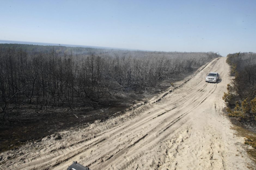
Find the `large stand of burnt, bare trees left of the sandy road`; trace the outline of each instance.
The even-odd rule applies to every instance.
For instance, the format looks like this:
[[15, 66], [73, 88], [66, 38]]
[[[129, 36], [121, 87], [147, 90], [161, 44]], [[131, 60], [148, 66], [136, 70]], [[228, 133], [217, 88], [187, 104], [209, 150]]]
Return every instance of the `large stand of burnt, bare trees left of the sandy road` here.
[[213, 57], [220, 56], [0, 44], [0, 116], [19, 116], [19, 109], [28, 104], [35, 111], [49, 106], [97, 107], [119, 92], [150, 91]]

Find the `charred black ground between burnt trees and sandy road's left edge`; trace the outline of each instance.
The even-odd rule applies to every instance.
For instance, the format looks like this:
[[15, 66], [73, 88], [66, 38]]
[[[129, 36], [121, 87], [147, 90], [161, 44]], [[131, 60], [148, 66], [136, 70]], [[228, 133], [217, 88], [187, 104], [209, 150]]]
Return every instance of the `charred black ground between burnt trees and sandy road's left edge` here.
[[[209, 60], [210, 61], [210, 60]], [[208, 61], [208, 62], [209, 62]], [[151, 93], [138, 92], [136, 89], [129, 94], [115, 94], [109, 100], [102, 103], [100, 108], [48, 108], [47, 111], [36, 113], [33, 105], [22, 108], [15, 122], [0, 123], [0, 153], [5, 150], [15, 149], [28, 141], [37, 141], [42, 137], [53, 134], [60, 130], [71, 127], [77, 127], [95, 120], [108, 118], [114, 113], [130, 107], [131, 105], [146, 101], [171, 86], [171, 83], [181, 81], [184, 78], [193, 75], [200, 66], [194, 67], [188, 73], [182, 73], [174, 76], [170, 80], [163, 81], [160, 86], [156, 87]]]

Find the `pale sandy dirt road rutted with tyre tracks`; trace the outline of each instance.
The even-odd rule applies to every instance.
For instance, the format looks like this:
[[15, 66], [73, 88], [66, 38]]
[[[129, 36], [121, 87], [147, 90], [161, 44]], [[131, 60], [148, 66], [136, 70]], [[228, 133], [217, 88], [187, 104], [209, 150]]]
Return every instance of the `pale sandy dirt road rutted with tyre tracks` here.
[[[0, 169], [66, 169], [73, 161], [92, 170], [255, 168], [223, 113], [231, 80], [225, 61], [214, 59], [123, 114], [7, 151], [14, 158]], [[220, 74], [218, 83], [205, 82], [210, 71]]]

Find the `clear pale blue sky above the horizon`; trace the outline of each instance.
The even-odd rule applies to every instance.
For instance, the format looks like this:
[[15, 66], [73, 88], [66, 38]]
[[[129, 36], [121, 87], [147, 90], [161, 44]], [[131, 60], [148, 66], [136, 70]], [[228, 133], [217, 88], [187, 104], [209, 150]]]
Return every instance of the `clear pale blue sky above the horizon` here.
[[256, 1], [0, 0], [0, 39], [140, 50], [256, 52]]

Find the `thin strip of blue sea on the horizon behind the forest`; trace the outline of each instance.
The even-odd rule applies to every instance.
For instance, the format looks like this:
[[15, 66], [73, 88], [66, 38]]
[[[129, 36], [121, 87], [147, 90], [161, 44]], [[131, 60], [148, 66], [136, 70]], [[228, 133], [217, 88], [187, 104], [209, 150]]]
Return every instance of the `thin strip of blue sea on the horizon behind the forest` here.
[[29, 41], [10, 41], [10, 40], [0, 40], [0, 44], [32, 44], [32, 45], [41, 45], [41, 46], [65, 46], [65, 47], [85, 47], [85, 48], [98, 48], [98, 49], [134, 50], [134, 49], [111, 48], [111, 47], [81, 46], [81, 45], [71, 45], [71, 44], [38, 43], [38, 42], [29, 42]]

